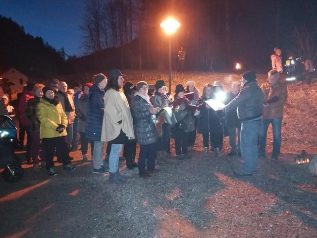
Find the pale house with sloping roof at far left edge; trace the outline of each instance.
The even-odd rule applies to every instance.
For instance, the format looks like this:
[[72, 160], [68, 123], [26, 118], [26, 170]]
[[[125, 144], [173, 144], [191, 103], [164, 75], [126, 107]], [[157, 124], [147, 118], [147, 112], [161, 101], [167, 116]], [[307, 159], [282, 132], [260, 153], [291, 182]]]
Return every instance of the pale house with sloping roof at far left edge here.
[[24, 85], [28, 81], [28, 77], [15, 68], [0, 71], [0, 78], [7, 78], [9, 82], [14, 83], [14, 85], [10, 86], [11, 100], [17, 99], [17, 94], [22, 92]]

